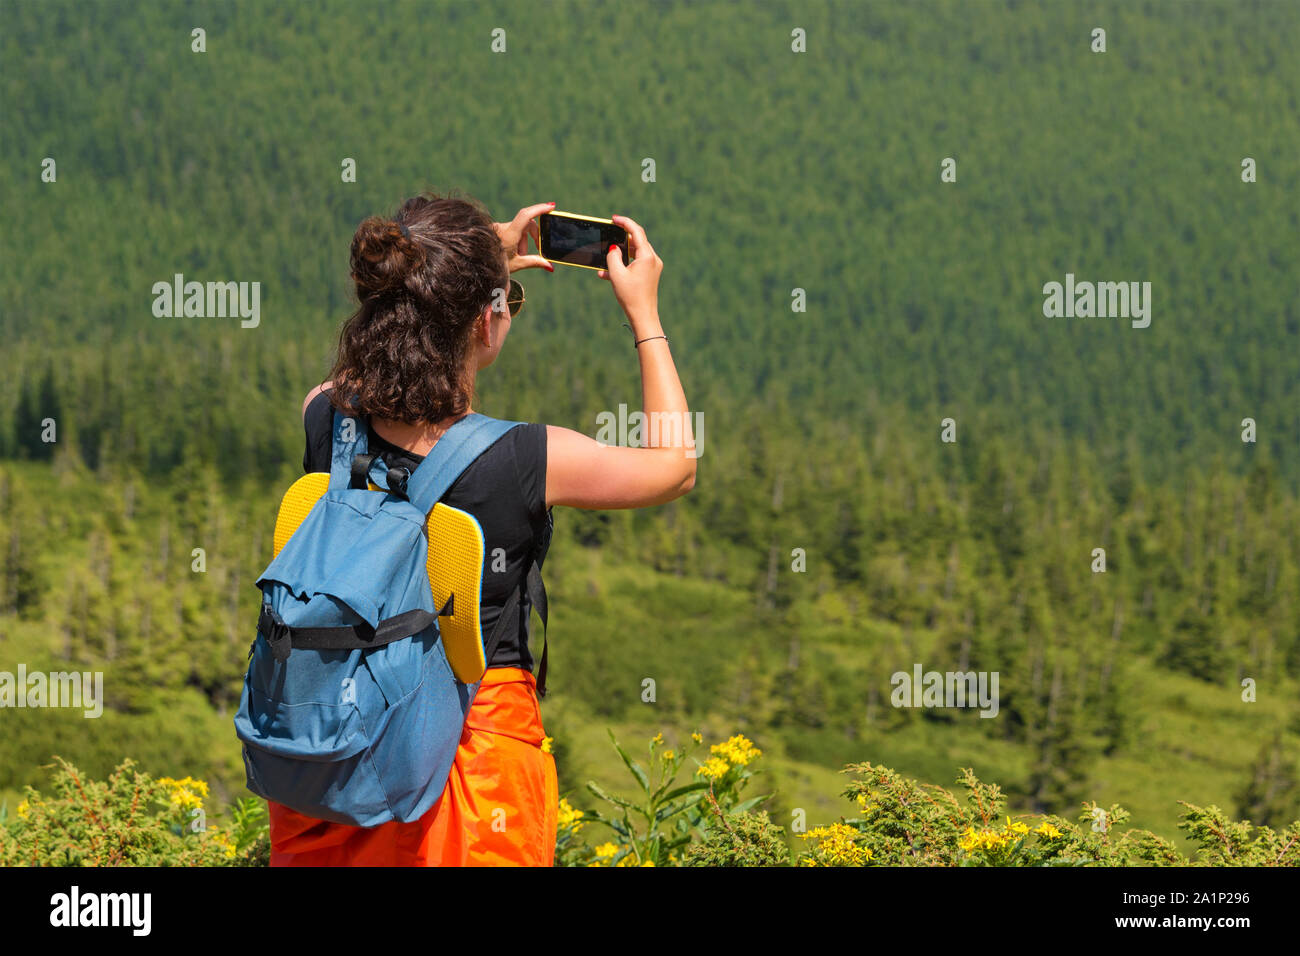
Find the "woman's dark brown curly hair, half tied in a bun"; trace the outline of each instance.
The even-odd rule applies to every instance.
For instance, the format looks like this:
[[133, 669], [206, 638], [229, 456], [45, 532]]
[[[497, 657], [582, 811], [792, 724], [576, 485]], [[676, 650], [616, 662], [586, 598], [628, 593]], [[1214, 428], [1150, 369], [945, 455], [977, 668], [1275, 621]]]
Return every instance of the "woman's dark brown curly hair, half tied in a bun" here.
[[493, 219], [472, 199], [424, 194], [352, 237], [360, 308], [343, 324], [330, 402], [352, 415], [434, 423], [469, 407], [474, 321], [510, 285]]

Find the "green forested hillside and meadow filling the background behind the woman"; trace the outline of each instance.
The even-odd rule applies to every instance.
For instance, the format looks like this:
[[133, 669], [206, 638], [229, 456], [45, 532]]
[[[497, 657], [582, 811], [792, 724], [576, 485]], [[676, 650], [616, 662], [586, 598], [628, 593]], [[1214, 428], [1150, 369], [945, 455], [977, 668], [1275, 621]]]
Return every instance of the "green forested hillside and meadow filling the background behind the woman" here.
[[[1179, 800], [1295, 819], [1297, 48], [1269, 1], [0, 0], [0, 671], [105, 697], [0, 710], [0, 803], [55, 754], [247, 796], [348, 243], [432, 189], [641, 222], [703, 416], [684, 498], [556, 509], [573, 806], [625, 775], [607, 730], [699, 730], [762, 748], [781, 826], [863, 761], [1175, 843]], [[260, 284], [256, 325], [156, 316], [177, 274]], [[1067, 274], [1149, 282], [1150, 324], [1046, 316]], [[608, 285], [517, 277], [476, 407], [637, 407]], [[997, 715], [894, 706], [916, 665], [996, 671]]]

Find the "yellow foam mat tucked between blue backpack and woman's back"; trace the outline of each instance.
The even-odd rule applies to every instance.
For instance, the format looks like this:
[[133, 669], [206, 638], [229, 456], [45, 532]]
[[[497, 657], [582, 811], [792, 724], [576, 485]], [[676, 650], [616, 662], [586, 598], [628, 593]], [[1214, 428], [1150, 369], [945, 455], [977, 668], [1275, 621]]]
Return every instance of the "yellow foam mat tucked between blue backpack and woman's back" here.
[[[290, 485], [276, 515], [274, 554], [280, 554], [326, 490], [328, 472], [303, 475]], [[381, 489], [372, 484], [370, 490]], [[452, 613], [438, 618], [447, 663], [458, 680], [472, 684], [488, 669], [478, 624], [485, 550], [482, 529], [469, 512], [442, 503], [433, 506], [425, 529], [433, 602], [441, 610], [455, 596]]]

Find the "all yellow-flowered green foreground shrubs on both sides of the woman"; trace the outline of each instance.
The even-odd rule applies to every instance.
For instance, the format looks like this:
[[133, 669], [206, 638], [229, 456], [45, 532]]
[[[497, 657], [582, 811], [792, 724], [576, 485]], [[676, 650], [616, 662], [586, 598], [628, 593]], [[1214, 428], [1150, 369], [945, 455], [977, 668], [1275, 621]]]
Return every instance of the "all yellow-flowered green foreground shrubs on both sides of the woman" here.
[[[612, 739], [612, 735], [611, 735]], [[559, 866], [786, 866], [784, 830], [758, 804], [741, 799], [762, 756], [744, 736], [714, 744], [679, 775], [703, 739], [681, 752], [650, 741], [647, 766], [614, 747], [637, 784], [628, 797], [597, 784], [607, 808], [582, 810], [560, 800]], [[55, 757], [52, 793], [27, 787], [12, 812], [0, 810], [0, 866], [265, 866], [266, 805], [237, 801], [229, 822], [207, 821], [203, 780], [152, 779], [126, 760], [96, 782]], [[798, 834], [798, 866], [1300, 866], [1300, 821], [1275, 830], [1230, 818], [1217, 806], [1183, 803], [1179, 829], [1196, 844], [1184, 856], [1148, 830], [1122, 829], [1128, 812], [1084, 803], [1078, 819], [1006, 810], [997, 784], [970, 769], [963, 796], [918, 783], [870, 762], [845, 769], [844, 796], [857, 816]], [[592, 825], [612, 839], [588, 843]]]

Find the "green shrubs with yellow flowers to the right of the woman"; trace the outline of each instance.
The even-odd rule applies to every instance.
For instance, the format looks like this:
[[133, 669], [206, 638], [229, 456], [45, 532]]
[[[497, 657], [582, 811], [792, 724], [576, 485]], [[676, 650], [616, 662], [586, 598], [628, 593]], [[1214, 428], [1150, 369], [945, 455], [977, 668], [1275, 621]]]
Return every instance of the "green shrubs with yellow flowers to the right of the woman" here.
[[[693, 735], [696, 744], [702, 743]], [[623, 810], [621, 817], [584, 812], [560, 801], [556, 865], [784, 866], [790, 853], [783, 830], [766, 812], [766, 797], [740, 801], [762, 754], [741, 736], [715, 744], [706, 762], [696, 761], [697, 782], [671, 790], [682, 758], [650, 741], [650, 773], [615, 741], [641, 791], [634, 799], [589, 790]], [[1056, 814], [1017, 814], [1006, 796], [974, 770], [961, 771], [965, 793], [918, 783], [889, 767], [852, 763], [844, 796], [857, 816], [798, 834], [800, 866], [1297, 866], [1300, 821], [1283, 830], [1234, 821], [1217, 806], [1182, 804], [1179, 829], [1197, 844], [1184, 856], [1164, 836], [1123, 829], [1128, 812], [1084, 803], [1078, 819]], [[668, 799], [667, 795], [676, 793]], [[585, 843], [584, 827], [603, 823], [618, 842]], [[670, 821], [673, 821], [670, 825]], [[580, 836], [580, 831], [584, 836]]]

